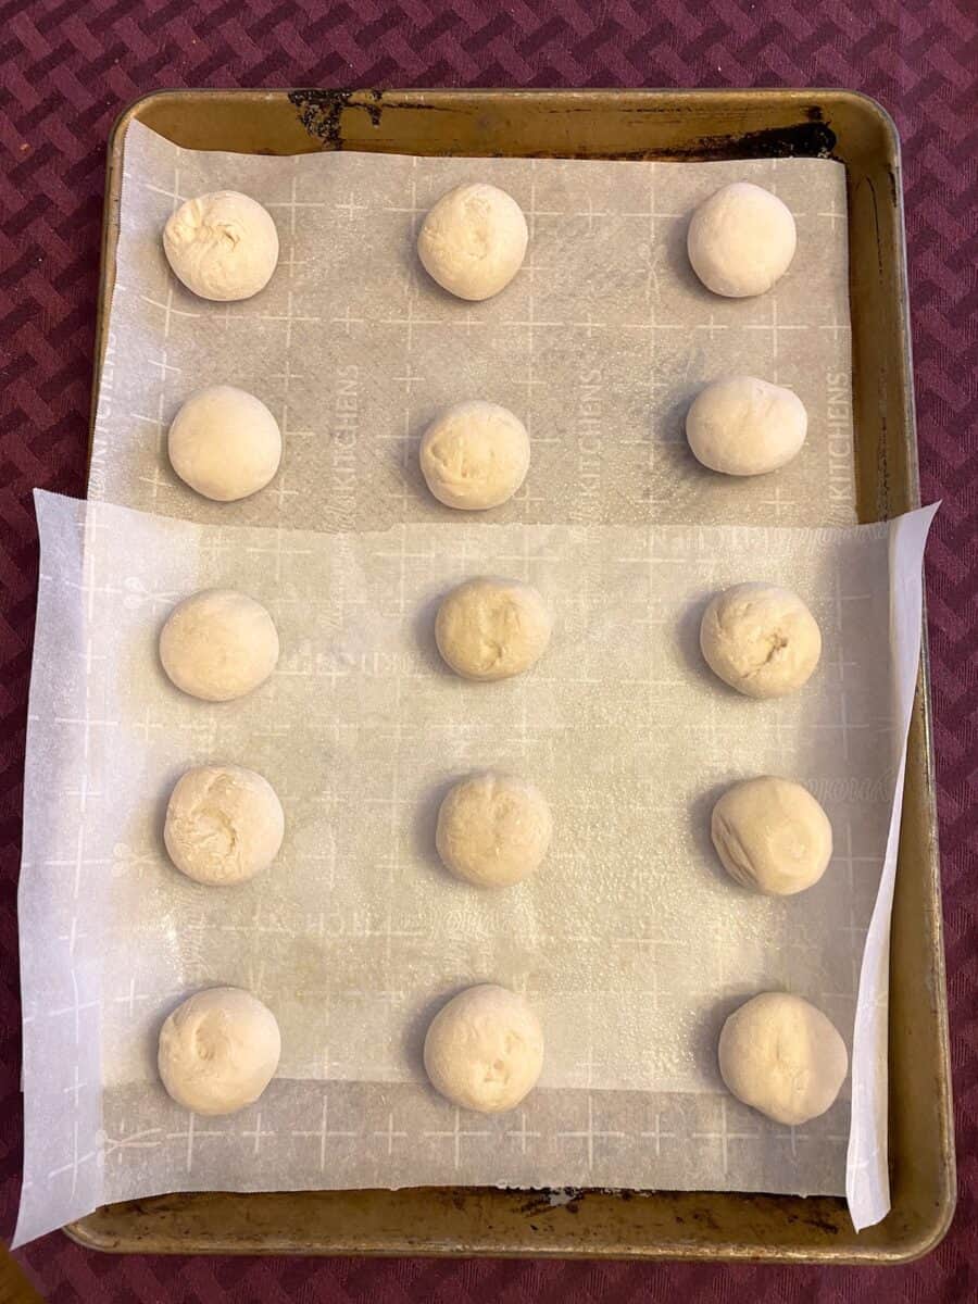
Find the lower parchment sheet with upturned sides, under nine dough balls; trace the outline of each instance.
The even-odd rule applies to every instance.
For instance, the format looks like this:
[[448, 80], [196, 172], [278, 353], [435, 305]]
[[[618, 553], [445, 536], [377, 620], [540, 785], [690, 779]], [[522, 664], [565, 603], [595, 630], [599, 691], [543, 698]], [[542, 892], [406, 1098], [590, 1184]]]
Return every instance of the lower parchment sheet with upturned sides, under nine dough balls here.
[[[329, 536], [38, 505], [18, 1241], [171, 1189], [844, 1189], [846, 1093], [781, 1128], [722, 1091], [715, 1045], [771, 987], [812, 999], [850, 1042], [898, 824], [897, 687], [915, 678], [930, 512], [835, 531]], [[471, 685], [438, 664], [432, 618], [485, 571], [532, 579], [556, 631], [531, 674]], [[699, 660], [704, 601], [746, 575], [794, 585], [822, 625], [823, 665], [795, 698], [741, 698]], [[155, 644], [180, 596], [226, 583], [269, 606], [283, 656], [254, 695], [209, 705], [168, 683]], [[222, 758], [265, 773], [288, 824], [276, 866], [227, 891], [184, 880], [160, 845], [175, 778]], [[446, 784], [485, 764], [539, 782], [557, 831], [540, 874], [498, 895], [450, 879], [432, 845]], [[825, 878], [794, 898], [737, 889], [709, 850], [716, 794], [759, 772], [806, 782], [836, 831]], [[437, 1098], [419, 1055], [432, 1012], [477, 981], [524, 991], [546, 1035], [540, 1088], [494, 1119]], [[154, 1046], [172, 1005], [211, 983], [271, 1005], [283, 1058], [257, 1106], [205, 1120], [166, 1097]], [[885, 964], [859, 1008], [885, 1008]], [[885, 1154], [880, 1046], [866, 1054], [863, 1138]], [[865, 1205], [879, 1191], [863, 1159], [849, 1171]]]

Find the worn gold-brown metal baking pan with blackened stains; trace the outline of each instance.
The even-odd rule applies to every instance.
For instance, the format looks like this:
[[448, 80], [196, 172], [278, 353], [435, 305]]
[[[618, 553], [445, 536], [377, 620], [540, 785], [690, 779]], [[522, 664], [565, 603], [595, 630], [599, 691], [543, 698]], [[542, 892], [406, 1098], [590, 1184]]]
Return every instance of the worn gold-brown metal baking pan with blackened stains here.
[[[96, 389], [115, 278], [123, 147], [134, 120], [185, 149], [726, 159], [820, 155], [846, 166], [861, 520], [919, 506], [900, 145], [874, 100], [837, 90], [163, 91], [110, 142]], [[889, 1155], [893, 1206], [853, 1230], [842, 1198], [720, 1192], [412, 1188], [194, 1193], [98, 1209], [65, 1230], [142, 1253], [520, 1254], [902, 1262], [955, 1208], [940, 879], [925, 644], [910, 726], [893, 909]]]

